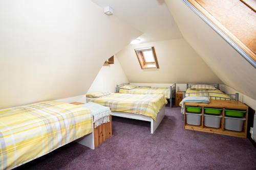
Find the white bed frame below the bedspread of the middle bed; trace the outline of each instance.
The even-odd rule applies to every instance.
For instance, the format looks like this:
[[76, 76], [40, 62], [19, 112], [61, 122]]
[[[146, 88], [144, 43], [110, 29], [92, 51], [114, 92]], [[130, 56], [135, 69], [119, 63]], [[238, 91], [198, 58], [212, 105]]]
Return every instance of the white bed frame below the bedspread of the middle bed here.
[[165, 106], [163, 106], [159, 113], [157, 114], [156, 120], [154, 120], [152, 117], [144, 116], [141, 114], [134, 114], [134, 113], [126, 113], [126, 112], [115, 112], [112, 111], [113, 116], [119, 116], [119, 117], [125, 117], [125, 118], [132, 118], [132, 119], [137, 119], [137, 120], [144, 120], [147, 122], [151, 122], [151, 134], [155, 132], [159, 124], [162, 122], [162, 119], [165, 114]]

